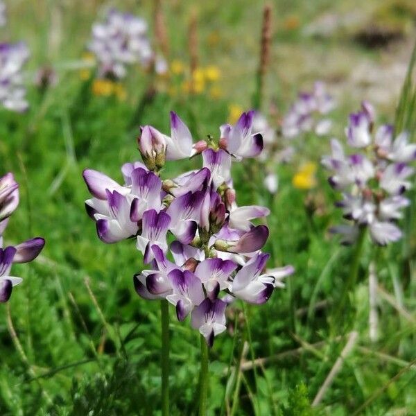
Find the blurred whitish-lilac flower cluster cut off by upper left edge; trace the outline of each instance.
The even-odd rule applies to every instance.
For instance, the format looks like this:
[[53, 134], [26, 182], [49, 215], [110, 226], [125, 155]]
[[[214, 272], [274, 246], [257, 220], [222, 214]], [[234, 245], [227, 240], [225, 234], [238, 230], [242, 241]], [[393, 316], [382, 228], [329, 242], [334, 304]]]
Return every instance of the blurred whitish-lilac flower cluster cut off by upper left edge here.
[[23, 42], [0, 44], [0, 102], [8, 110], [27, 110], [26, 89], [23, 86], [22, 67], [29, 51]]

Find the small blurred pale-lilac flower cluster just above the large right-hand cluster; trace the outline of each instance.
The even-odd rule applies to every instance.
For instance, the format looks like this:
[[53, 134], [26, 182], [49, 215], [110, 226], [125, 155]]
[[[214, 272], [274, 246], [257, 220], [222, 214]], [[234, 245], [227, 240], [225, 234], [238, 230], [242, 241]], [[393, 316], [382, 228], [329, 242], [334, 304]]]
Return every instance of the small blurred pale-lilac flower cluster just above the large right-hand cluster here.
[[336, 103], [327, 94], [324, 83], [315, 83], [312, 92], [301, 92], [291, 110], [284, 116], [281, 132], [287, 139], [293, 139], [303, 132], [315, 132], [324, 136], [331, 129], [331, 120], [327, 114], [333, 110]]

